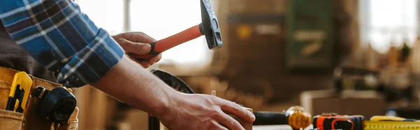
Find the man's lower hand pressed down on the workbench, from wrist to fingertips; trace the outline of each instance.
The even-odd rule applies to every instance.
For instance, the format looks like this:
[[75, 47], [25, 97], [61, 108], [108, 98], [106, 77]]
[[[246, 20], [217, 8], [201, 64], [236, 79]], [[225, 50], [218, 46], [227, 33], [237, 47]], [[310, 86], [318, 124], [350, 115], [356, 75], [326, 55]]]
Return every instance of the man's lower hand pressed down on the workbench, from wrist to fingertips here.
[[204, 94], [175, 94], [158, 119], [169, 129], [244, 129], [233, 117], [253, 122], [255, 116], [237, 103]]

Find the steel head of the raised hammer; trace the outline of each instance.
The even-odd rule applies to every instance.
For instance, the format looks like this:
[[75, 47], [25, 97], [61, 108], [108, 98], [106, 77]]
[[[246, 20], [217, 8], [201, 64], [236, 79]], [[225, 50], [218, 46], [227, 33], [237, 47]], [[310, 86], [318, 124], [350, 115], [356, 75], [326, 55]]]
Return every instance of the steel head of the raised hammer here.
[[209, 0], [200, 0], [202, 13], [202, 26], [206, 36], [209, 49], [221, 48], [223, 46], [221, 29], [218, 24], [216, 13]]

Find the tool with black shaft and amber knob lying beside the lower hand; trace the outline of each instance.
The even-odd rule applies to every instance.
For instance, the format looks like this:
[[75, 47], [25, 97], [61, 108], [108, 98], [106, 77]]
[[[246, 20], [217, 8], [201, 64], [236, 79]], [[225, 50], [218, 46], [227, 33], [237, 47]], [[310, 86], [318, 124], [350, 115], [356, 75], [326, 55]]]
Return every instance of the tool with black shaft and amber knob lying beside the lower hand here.
[[287, 124], [293, 129], [305, 129], [311, 124], [311, 114], [300, 106], [293, 106], [283, 113], [254, 112], [255, 122], [253, 125]]

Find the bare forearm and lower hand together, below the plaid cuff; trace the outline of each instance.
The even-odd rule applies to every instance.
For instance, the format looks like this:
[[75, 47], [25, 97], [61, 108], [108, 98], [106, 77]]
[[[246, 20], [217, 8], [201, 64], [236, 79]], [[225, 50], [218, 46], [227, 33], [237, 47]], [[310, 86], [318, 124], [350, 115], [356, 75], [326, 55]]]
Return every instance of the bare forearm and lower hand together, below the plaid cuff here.
[[203, 94], [183, 94], [128, 57], [92, 86], [144, 110], [169, 129], [244, 129], [228, 114], [253, 122], [253, 113], [231, 101]]

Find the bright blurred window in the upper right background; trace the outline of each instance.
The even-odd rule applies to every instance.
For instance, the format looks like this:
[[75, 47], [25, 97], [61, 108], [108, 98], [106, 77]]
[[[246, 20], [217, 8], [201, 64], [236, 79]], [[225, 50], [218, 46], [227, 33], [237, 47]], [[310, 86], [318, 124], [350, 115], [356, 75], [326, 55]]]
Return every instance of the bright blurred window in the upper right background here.
[[365, 43], [371, 43], [379, 52], [386, 52], [390, 43], [399, 46], [406, 40], [412, 45], [418, 33], [416, 0], [363, 0], [366, 15]]

